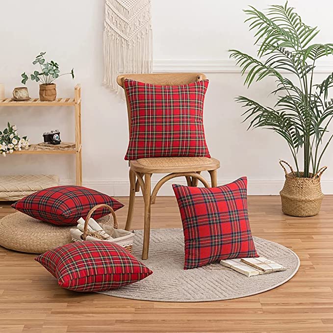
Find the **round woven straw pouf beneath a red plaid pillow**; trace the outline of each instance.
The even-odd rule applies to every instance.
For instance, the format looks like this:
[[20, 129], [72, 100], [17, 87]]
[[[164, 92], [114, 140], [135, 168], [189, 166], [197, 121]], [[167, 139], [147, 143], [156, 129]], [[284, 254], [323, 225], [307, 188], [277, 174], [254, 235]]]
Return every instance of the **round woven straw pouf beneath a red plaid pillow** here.
[[[113, 217], [106, 215], [97, 222], [113, 226]], [[71, 228], [74, 227], [55, 226], [18, 211], [0, 219], [0, 246], [20, 252], [44, 253], [72, 243]]]

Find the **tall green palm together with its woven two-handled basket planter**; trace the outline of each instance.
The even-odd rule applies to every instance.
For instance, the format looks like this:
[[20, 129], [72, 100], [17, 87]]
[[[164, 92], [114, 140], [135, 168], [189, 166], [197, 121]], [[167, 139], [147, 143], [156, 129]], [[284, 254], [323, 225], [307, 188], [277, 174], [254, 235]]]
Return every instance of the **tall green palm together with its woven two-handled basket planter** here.
[[320, 177], [326, 169], [320, 165], [333, 137], [326, 135], [333, 118], [329, 97], [333, 73], [315, 84], [314, 69], [318, 59], [333, 54], [333, 44], [310, 44], [319, 30], [307, 26], [287, 2], [271, 5], [265, 13], [252, 6], [244, 12], [248, 16], [245, 22], [255, 31], [257, 55], [229, 50], [230, 56], [241, 67], [247, 86], [274, 77], [277, 87], [272, 94], [277, 101], [274, 107], [244, 96], [236, 101], [246, 108], [243, 116], [249, 128], [272, 129], [290, 148], [296, 170], [291, 168], [288, 173], [283, 168], [282, 211], [292, 216], [316, 215], [323, 198]]

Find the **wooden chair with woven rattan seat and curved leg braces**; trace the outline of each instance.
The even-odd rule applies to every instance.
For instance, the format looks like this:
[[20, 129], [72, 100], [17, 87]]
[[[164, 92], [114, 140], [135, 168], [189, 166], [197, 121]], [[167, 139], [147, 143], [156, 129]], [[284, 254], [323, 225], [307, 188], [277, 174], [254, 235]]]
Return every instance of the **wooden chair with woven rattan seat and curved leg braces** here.
[[[166, 74], [125, 74], [117, 77], [118, 84], [124, 88], [125, 78], [140, 82], [160, 84], [160, 85], [180, 85], [195, 81], [204, 80], [206, 77], [200, 73], [166, 73]], [[125, 92], [126, 95], [126, 92]], [[128, 128], [131, 130], [131, 110], [126, 96], [128, 111]], [[217, 186], [216, 170], [220, 167], [219, 160], [208, 157], [154, 157], [140, 158], [129, 161], [129, 204], [126, 222], [126, 230], [131, 229], [133, 218], [135, 192], [140, 187], [145, 203], [145, 222], [142, 259], [148, 259], [149, 238], [150, 238], [150, 220], [151, 205], [155, 203], [156, 195], [160, 187], [168, 180], [175, 177], [184, 176], [188, 186], [197, 186], [200, 180], [205, 187], [209, 187], [207, 180], [200, 174], [202, 171], [208, 171], [211, 178], [212, 187]], [[153, 174], [168, 174], [160, 179], [151, 191], [151, 177]]]

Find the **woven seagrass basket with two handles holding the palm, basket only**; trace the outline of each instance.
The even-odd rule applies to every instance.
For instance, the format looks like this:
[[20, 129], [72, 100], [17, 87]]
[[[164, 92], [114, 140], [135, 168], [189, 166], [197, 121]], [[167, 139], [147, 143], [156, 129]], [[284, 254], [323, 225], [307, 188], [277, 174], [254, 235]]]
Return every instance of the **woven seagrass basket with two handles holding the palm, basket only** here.
[[[290, 173], [282, 163], [290, 168]], [[280, 192], [282, 212], [286, 215], [306, 217], [319, 213], [324, 194], [321, 191], [320, 178], [327, 167], [322, 167], [311, 178], [297, 177], [289, 163], [280, 160], [285, 173], [284, 186]], [[300, 173], [303, 175], [303, 172]]]

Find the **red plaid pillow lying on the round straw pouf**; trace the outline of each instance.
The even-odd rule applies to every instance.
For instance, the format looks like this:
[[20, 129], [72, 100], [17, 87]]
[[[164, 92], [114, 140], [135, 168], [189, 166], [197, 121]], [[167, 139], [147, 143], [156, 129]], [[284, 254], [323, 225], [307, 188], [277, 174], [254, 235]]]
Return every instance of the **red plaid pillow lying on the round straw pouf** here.
[[[12, 207], [37, 220], [58, 226], [74, 226], [80, 217], [85, 219], [89, 210], [99, 204], [109, 205], [113, 210], [124, 206], [116, 199], [90, 188], [55, 186], [30, 194]], [[109, 213], [103, 208], [92, 217], [99, 219]]]

